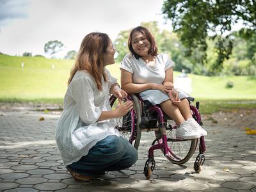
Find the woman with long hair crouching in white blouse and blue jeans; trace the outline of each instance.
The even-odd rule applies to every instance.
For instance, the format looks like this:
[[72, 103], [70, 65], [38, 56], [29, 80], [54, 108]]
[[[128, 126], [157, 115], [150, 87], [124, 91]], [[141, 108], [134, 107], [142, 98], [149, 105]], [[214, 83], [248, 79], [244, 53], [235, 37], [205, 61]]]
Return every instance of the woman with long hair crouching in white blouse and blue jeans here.
[[136, 148], [120, 137], [113, 122], [132, 109], [131, 101], [113, 111], [109, 104], [109, 93], [118, 99], [127, 96], [105, 68], [115, 63], [114, 54], [108, 35], [90, 33], [70, 72], [56, 142], [64, 165], [77, 180], [129, 168], [138, 159]]

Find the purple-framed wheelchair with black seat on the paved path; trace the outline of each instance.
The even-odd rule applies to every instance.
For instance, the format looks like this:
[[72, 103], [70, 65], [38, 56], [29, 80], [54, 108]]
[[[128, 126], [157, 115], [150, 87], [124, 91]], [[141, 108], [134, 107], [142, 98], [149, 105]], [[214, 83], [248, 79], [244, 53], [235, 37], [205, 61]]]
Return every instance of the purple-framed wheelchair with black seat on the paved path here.
[[[198, 111], [200, 103], [196, 106], [191, 105], [192, 97], [187, 98], [193, 118], [202, 124], [201, 116]], [[142, 131], [154, 131], [156, 139], [148, 150], [148, 159], [145, 163], [144, 174], [150, 179], [156, 166], [154, 160], [154, 150], [160, 149], [164, 156], [174, 164], [184, 164], [195, 153], [199, 143], [199, 154], [194, 163], [196, 173], [202, 171], [202, 165], [205, 161], [205, 141], [204, 136], [198, 139], [183, 140], [176, 138], [177, 125], [170, 119], [159, 106], [153, 106], [147, 101], [143, 101], [139, 94], [127, 95], [122, 102], [132, 100], [133, 109], [122, 118], [115, 118], [115, 128], [118, 129], [121, 136], [127, 139], [137, 150], [140, 145]], [[112, 109], [116, 108], [118, 99], [113, 95], [109, 99]]]

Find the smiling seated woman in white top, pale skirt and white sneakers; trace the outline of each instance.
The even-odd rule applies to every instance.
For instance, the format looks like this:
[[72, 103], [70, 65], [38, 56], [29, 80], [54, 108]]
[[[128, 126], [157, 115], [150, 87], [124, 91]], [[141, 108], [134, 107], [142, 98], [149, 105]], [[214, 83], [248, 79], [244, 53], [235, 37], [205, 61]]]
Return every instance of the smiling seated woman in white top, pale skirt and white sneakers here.
[[173, 61], [158, 54], [154, 36], [147, 28], [132, 29], [128, 41], [130, 54], [120, 65], [122, 89], [140, 93], [143, 100], [159, 105], [178, 125], [176, 137], [194, 139], [207, 132], [192, 118], [187, 94], [173, 88]]

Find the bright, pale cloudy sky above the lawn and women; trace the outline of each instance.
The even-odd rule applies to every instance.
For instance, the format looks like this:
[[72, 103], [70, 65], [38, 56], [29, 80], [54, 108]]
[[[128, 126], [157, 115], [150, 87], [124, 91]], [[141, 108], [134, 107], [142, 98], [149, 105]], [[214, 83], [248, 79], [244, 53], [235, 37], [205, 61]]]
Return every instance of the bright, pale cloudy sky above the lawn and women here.
[[44, 44], [59, 40], [62, 52], [76, 50], [92, 32], [118, 33], [157, 20], [159, 28], [171, 30], [161, 8], [163, 0], [0, 0], [0, 52], [44, 55]]

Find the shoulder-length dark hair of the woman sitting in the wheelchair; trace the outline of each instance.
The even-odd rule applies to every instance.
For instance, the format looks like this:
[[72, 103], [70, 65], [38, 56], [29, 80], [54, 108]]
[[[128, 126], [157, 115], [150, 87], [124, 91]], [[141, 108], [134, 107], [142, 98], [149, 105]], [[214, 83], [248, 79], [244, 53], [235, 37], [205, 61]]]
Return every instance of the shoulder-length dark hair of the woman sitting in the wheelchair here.
[[132, 29], [132, 31], [131, 31], [131, 33], [129, 35], [129, 40], [128, 40], [129, 50], [134, 55], [134, 57], [137, 60], [141, 57], [140, 55], [136, 54], [136, 52], [134, 52], [134, 50], [132, 49], [132, 34], [135, 31], [140, 31], [141, 33], [143, 33], [143, 35], [145, 35], [147, 40], [150, 42], [151, 47], [150, 47], [150, 50], [148, 51], [148, 54], [150, 54], [152, 56], [157, 56], [157, 51], [158, 50], [157, 50], [157, 45], [156, 45], [154, 36], [152, 35], [152, 33], [147, 28], [145, 28], [143, 26], [138, 26], [138, 27]]

